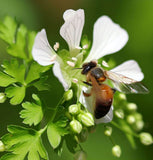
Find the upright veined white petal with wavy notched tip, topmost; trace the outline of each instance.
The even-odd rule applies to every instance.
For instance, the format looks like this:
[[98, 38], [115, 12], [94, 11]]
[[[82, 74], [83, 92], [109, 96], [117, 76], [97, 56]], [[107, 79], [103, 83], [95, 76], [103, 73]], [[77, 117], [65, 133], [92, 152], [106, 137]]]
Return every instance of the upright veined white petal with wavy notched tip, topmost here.
[[60, 35], [69, 45], [70, 50], [79, 47], [81, 34], [84, 26], [84, 10], [74, 11], [69, 9], [64, 12], [63, 18], [65, 23], [60, 29]]

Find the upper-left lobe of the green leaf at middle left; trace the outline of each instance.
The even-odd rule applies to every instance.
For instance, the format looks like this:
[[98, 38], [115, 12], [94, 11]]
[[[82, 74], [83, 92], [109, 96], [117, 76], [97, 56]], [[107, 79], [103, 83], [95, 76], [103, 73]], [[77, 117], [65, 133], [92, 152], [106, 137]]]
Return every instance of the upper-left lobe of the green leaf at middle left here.
[[17, 82], [24, 84], [25, 66], [19, 65], [17, 59], [11, 59], [11, 61], [5, 60], [2, 67], [4, 72], [16, 79]]

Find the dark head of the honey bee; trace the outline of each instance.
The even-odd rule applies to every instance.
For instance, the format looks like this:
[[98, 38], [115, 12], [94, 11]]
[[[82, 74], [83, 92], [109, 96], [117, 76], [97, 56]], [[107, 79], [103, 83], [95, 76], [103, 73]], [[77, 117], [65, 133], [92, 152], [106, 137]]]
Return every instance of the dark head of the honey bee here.
[[97, 66], [97, 62], [96, 61], [91, 61], [89, 63], [84, 63], [82, 65], [82, 74], [87, 74], [92, 68]]

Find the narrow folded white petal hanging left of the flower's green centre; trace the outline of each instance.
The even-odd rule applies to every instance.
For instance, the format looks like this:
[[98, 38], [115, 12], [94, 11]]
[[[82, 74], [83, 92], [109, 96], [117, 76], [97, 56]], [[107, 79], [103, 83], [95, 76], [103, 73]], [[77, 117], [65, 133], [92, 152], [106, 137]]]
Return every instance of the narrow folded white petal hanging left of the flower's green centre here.
[[61, 84], [64, 87], [64, 90], [67, 91], [69, 89], [68, 83], [65, 81], [62, 71], [60, 69], [60, 64], [56, 61], [53, 66], [53, 73], [58, 78], [58, 80], [61, 82]]

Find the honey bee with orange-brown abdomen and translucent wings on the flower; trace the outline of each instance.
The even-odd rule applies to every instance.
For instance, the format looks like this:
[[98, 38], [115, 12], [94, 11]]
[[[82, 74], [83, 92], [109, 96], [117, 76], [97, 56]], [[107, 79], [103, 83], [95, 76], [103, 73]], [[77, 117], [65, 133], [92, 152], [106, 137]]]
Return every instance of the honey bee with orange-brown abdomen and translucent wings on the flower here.
[[[104, 117], [109, 112], [116, 90], [126, 94], [148, 93], [148, 89], [139, 81], [128, 78], [122, 74], [103, 70], [97, 66], [96, 61], [83, 64], [81, 73], [86, 75], [86, 81], [83, 82], [92, 86], [90, 93], [83, 92], [83, 94], [85, 97], [94, 96], [94, 116], [96, 119]], [[104, 81], [107, 79], [113, 82], [115, 88], [104, 84]]]

